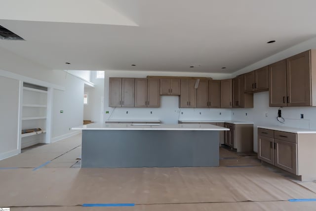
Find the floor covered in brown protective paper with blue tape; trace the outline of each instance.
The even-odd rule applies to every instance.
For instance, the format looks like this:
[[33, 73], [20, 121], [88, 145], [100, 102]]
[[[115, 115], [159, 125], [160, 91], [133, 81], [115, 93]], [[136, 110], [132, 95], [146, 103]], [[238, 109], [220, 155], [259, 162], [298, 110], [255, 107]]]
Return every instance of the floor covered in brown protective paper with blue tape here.
[[[313, 211], [316, 183], [220, 148], [220, 167], [80, 169], [81, 136], [0, 161], [0, 207], [12, 211]], [[102, 204], [111, 207], [83, 207]], [[118, 207], [113, 207], [117, 206]], [[128, 207], [123, 207], [123, 206]]]

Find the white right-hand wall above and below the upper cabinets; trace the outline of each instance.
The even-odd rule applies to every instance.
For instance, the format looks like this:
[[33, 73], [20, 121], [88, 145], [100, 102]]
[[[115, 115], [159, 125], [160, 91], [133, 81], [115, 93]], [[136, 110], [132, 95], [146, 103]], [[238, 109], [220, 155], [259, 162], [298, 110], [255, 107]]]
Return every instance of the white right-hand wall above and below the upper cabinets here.
[[[276, 53], [266, 59], [258, 61], [248, 67], [245, 67], [234, 76], [252, 70], [264, 67], [279, 60], [293, 56], [300, 52], [315, 49], [316, 38], [298, 45], [290, 47], [282, 52]], [[269, 92], [259, 92], [254, 94], [254, 108], [251, 109], [233, 109], [232, 118], [240, 121], [250, 121], [254, 123], [254, 151], [257, 152], [257, 126], [286, 126], [299, 127], [305, 129], [316, 129], [316, 107], [283, 107], [282, 117], [285, 119], [284, 124], [276, 121], [278, 107], [269, 107]], [[247, 113], [247, 116], [245, 115]], [[268, 117], [265, 114], [268, 114]], [[304, 114], [304, 119], [300, 119], [300, 114]]]

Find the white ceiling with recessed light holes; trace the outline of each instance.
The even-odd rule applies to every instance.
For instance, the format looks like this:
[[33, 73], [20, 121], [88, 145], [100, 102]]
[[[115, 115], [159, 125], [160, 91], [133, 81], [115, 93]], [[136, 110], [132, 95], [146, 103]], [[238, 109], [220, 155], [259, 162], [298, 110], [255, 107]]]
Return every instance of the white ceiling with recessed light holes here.
[[316, 37], [315, 8], [315, 0], [1, 0], [0, 25], [25, 41], [0, 48], [51, 69], [233, 73]]

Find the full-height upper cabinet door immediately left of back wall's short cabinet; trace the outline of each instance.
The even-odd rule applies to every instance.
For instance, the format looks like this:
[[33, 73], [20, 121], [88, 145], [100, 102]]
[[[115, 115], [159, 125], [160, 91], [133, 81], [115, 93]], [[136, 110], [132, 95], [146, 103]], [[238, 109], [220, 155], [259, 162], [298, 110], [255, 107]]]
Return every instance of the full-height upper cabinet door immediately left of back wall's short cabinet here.
[[148, 79], [147, 80], [147, 107], [159, 107], [160, 106], [160, 80]]

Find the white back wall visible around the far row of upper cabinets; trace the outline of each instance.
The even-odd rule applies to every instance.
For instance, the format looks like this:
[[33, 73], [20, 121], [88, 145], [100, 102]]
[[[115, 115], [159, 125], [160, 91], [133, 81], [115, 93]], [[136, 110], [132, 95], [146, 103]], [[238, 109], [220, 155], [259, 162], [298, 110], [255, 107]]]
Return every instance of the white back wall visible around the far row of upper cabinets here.
[[[211, 77], [213, 79], [229, 78], [229, 74], [178, 73], [178, 72], [145, 72], [145, 71], [105, 71], [104, 79], [104, 120], [138, 119], [160, 120], [165, 124], [177, 124], [182, 120], [230, 120], [230, 109], [179, 108], [179, 96], [160, 96], [159, 108], [111, 108], [109, 105], [109, 77], [146, 78], [147, 76], [192, 76]], [[126, 114], [126, 112], [128, 112]], [[152, 114], [151, 114], [152, 112]]]

